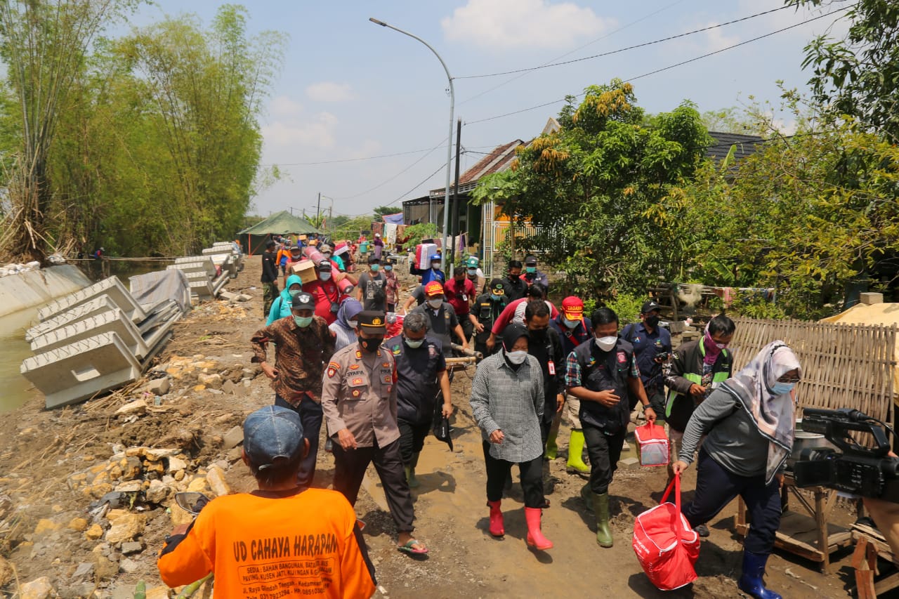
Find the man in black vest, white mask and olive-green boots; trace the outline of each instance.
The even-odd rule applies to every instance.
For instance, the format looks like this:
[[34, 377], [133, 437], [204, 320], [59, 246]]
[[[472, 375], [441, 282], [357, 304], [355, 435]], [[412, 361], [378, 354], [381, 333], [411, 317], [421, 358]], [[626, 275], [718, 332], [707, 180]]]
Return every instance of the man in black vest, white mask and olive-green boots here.
[[643, 404], [647, 420], [654, 422], [655, 412], [640, 380], [634, 346], [618, 337], [618, 315], [611, 308], [599, 308], [591, 320], [593, 338], [568, 354], [565, 385], [581, 400], [581, 425], [590, 456], [590, 482], [581, 496], [596, 514], [596, 542], [611, 547], [609, 485], [628, 432], [628, 398], [636, 396]]

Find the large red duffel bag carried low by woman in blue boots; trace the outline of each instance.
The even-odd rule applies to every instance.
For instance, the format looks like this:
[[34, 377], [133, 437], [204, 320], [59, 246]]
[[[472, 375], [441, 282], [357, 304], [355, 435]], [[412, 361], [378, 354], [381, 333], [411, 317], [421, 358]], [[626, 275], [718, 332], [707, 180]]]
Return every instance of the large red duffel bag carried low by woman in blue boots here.
[[[674, 504], [667, 503], [674, 487]], [[650, 582], [672, 591], [696, 580], [693, 564], [699, 558], [699, 534], [681, 514], [681, 475], [674, 477], [662, 503], [636, 517], [634, 552]]]

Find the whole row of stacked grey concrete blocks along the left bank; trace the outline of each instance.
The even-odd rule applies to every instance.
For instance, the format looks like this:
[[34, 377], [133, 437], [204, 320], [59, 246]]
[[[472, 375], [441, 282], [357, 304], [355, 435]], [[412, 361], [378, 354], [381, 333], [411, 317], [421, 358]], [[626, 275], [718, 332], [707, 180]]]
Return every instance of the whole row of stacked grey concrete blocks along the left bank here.
[[242, 267], [237, 247], [218, 243], [166, 267], [181, 274], [132, 277], [134, 295], [110, 277], [52, 301], [25, 334], [35, 355], [22, 362], [22, 376], [44, 393], [47, 407], [127, 385], [162, 351], [190, 302], [218, 296]]

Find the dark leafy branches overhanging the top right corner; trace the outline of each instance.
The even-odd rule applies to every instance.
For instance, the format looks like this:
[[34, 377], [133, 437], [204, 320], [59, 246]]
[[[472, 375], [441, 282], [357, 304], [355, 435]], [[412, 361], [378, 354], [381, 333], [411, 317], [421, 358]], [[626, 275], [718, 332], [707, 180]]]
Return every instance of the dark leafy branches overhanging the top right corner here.
[[[830, 6], [832, 0], [786, 0], [788, 5]], [[814, 99], [834, 116], [849, 115], [899, 141], [899, 4], [859, 0], [845, 13], [846, 35], [819, 35], [806, 46]]]

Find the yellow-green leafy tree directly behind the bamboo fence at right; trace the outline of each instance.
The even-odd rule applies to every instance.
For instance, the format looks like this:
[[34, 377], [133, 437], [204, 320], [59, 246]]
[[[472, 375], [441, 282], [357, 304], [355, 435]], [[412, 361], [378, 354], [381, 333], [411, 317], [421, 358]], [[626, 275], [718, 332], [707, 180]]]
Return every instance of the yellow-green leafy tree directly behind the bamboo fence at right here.
[[899, 148], [851, 121], [797, 112], [797, 122], [735, 172], [701, 169], [654, 218], [690, 222], [694, 280], [774, 287], [782, 313], [814, 318], [838, 311], [852, 285], [895, 276]]

